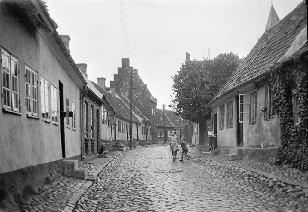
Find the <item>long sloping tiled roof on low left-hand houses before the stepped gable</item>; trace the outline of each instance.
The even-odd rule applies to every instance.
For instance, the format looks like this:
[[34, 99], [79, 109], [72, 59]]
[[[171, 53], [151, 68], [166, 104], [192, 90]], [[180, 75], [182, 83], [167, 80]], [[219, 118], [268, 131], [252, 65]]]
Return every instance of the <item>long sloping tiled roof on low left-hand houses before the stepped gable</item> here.
[[[130, 120], [130, 110], [127, 107], [127, 105], [124, 103], [124, 101], [119, 97], [120, 94], [116, 93], [115, 95], [112, 95], [110, 92], [105, 91], [102, 87], [100, 87], [98, 84], [91, 81], [91, 84], [94, 85], [94, 87], [105, 96], [105, 99], [107, 100], [108, 104], [113, 108], [114, 112], [121, 116], [123, 119], [129, 121]], [[138, 124], [141, 124], [141, 122], [136, 118], [136, 116], [132, 116], [132, 121]]]

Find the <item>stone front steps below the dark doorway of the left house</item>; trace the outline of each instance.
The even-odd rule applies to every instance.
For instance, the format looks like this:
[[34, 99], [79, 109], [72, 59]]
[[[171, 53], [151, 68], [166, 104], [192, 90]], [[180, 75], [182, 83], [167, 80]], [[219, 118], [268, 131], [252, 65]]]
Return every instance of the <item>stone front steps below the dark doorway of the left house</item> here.
[[96, 177], [88, 175], [87, 168], [78, 168], [77, 160], [63, 160], [63, 174], [67, 177], [96, 181]]

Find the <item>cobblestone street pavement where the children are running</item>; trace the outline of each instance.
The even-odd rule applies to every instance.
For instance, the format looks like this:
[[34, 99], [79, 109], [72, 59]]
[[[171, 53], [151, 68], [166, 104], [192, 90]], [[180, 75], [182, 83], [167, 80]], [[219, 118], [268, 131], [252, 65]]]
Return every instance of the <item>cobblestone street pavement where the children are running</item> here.
[[[221, 156], [200, 157], [197, 148], [189, 148], [189, 155], [189, 161], [185, 157], [183, 162], [172, 161], [164, 146], [138, 147], [109, 162], [97, 183], [65, 177], [21, 208], [24, 212], [308, 211], [308, 190], [301, 186], [306, 185], [306, 173], [249, 161], [222, 163]], [[271, 176], [263, 175], [265, 169]], [[289, 174], [280, 174], [283, 170]], [[280, 179], [271, 178], [274, 174]], [[287, 183], [290, 179], [293, 184]]]

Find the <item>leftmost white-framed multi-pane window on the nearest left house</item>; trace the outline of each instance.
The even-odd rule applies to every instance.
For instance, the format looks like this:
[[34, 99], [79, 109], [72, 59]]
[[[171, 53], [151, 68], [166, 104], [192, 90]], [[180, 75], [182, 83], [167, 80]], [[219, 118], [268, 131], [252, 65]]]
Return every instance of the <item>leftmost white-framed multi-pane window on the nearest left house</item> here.
[[1, 49], [2, 105], [19, 112], [19, 66], [18, 59]]

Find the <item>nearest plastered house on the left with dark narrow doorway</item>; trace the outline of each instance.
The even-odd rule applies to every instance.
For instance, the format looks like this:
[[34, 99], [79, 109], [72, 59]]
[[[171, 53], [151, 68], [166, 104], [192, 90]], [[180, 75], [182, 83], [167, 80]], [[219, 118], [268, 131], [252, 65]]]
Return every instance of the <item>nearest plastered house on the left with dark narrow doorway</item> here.
[[18, 205], [59, 180], [64, 158], [80, 159], [87, 82], [44, 2], [30, 2], [0, 1], [0, 205], [7, 207], [5, 198]]

